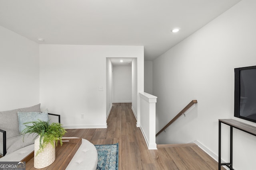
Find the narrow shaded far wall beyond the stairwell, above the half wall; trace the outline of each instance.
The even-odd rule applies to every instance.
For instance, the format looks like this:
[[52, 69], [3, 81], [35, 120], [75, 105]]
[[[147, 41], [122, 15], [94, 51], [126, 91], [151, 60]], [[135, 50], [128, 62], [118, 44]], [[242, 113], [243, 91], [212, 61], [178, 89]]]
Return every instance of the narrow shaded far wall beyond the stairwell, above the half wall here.
[[153, 62], [144, 61], [144, 92], [153, 94]]

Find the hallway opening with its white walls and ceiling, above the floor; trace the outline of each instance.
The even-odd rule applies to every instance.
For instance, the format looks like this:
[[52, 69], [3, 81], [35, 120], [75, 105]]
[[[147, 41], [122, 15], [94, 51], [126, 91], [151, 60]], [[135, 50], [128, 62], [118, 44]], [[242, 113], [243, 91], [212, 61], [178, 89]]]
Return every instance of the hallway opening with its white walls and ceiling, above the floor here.
[[113, 103], [134, 104], [134, 94], [137, 94], [137, 76], [134, 76], [137, 75], [137, 68], [134, 68], [136, 63], [136, 58], [107, 58], [106, 119]]

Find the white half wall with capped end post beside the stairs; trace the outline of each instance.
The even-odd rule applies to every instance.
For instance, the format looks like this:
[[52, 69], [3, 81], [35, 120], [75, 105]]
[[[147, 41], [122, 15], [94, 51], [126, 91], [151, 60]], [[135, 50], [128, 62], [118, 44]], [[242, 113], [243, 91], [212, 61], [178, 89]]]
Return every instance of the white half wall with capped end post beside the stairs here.
[[140, 93], [140, 129], [148, 149], [156, 148], [156, 96]]

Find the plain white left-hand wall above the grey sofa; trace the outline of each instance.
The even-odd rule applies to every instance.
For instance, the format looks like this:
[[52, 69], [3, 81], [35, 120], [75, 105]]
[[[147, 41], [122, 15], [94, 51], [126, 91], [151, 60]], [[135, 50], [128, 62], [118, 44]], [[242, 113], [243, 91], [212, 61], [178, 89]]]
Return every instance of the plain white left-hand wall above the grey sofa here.
[[39, 103], [39, 45], [0, 26], [0, 111]]

